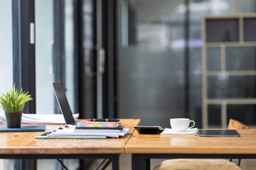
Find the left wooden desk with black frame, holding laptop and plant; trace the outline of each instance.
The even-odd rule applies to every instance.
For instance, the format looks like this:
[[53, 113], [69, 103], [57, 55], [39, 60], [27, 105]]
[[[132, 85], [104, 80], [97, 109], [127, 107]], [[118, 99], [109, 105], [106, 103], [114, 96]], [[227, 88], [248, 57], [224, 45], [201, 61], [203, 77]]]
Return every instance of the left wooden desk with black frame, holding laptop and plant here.
[[[112, 159], [113, 169], [119, 169], [119, 154], [124, 153], [124, 145], [134, 132], [139, 119], [120, 120], [129, 133], [118, 139], [35, 139], [44, 132], [1, 132], [0, 159]], [[46, 132], [63, 125], [46, 125]]]

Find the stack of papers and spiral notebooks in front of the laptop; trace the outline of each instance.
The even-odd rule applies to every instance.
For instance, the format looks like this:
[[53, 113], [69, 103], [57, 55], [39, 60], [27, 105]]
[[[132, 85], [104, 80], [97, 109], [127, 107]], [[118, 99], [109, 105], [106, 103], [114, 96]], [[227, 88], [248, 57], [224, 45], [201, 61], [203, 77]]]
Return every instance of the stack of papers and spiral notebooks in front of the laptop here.
[[119, 121], [92, 122], [85, 120], [82, 125], [67, 125], [53, 132], [46, 132], [41, 136], [36, 136], [36, 139], [105, 139], [108, 137], [118, 138], [119, 136], [124, 136], [127, 132], [129, 132], [129, 129], [120, 125]]

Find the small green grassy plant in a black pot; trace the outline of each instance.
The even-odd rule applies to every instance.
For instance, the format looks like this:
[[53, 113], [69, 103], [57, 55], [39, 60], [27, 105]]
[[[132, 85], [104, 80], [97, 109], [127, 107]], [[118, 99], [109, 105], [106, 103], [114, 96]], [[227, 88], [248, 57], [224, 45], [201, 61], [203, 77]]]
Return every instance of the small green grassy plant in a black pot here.
[[33, 100], [28, 92], [12, 89], [0, 95], [1, 108], [6, 116], [7, 128], [21, 128], [21, 116], [26, 102]]

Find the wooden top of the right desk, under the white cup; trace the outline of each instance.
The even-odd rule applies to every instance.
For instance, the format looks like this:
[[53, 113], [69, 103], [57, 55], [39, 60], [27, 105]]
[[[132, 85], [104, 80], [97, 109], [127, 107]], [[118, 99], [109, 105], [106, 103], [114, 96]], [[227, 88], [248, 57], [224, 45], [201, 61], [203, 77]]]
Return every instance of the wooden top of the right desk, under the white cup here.
[[256, 130], [240, 137], [142, 135], [135, 131], [124, 147], [132, 154], [256, 154]]

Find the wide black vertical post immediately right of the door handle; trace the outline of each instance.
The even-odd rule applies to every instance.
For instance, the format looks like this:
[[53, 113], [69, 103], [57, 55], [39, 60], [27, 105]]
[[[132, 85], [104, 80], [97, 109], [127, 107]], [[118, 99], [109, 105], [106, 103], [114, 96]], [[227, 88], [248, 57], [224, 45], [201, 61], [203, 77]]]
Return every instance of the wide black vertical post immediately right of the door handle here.
[[117, 116], [117, 2], [102, 1], [102, 46], [105, 48], [105, 73], [103, 74], [103, 115]]

